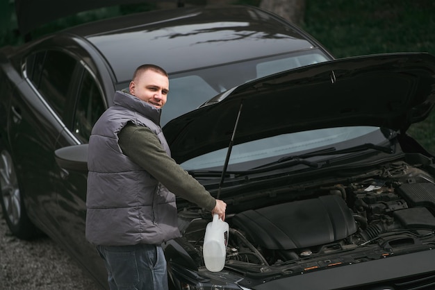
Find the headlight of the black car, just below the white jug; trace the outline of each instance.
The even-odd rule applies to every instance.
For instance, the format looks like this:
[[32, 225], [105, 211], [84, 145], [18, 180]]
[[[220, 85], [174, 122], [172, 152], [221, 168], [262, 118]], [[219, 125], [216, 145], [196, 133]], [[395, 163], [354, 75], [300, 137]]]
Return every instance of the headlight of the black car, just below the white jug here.
[[227, 271], [210, 272], [206, 268], [191, 271], [175, 265], [168, 269], [174, 284], [183, 290], [249, 290], [237, 284], [241, 276]]

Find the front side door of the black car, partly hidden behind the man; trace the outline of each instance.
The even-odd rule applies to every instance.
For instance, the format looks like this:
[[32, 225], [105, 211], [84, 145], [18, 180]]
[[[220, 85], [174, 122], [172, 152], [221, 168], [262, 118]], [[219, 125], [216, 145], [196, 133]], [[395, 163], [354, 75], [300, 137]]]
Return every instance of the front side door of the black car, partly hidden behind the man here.
[[[101, 86], [92, 72], [82, 66], [78, 69], [75, 92], [67, 102], [67, 127], [58, 137], [56, 148], [79, 141], [87, 144], [92, 126], [106, 110]], [[77, 257], [99, 280], [106, 280], [106, 270], [95, 247], [85, 239], [87, 169], [71, 170], [58, 167], [61, 181], [57, 184], [57, 220], [63, 234], [64, 246]]]

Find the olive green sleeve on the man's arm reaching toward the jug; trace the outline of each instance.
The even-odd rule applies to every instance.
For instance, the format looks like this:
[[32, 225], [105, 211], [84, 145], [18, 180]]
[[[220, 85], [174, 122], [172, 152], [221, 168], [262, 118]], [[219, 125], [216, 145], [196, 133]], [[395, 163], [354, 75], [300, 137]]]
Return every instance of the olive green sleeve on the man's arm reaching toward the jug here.
[[215, 198], [167, 155], [158, 137], [149, 128], [127, 123], [118, 133], [118, 138], [122, 152], [173, 194], [206, 210], [213, 210]]

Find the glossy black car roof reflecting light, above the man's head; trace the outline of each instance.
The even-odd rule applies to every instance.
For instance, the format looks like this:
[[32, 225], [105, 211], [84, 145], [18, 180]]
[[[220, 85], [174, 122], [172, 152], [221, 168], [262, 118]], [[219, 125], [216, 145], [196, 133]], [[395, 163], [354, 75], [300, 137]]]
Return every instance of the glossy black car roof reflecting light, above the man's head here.
[[117, 83], [128, 82], [133, 70], [144, 63], [174, 74], [318, 48], [296, 26], [251, 6], [154, 10], [83, 24], [63, 33], [84, 37], [95, 46]]

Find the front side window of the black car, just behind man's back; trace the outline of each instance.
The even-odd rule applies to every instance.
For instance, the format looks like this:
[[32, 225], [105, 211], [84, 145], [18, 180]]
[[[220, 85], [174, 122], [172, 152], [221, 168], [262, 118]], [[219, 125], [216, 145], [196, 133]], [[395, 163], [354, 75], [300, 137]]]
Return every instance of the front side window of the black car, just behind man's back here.
[[89, 141], [92, 126], [104, 112], [101, 92], [89, 71], [85, 70], [78, 92], [73, 132], [83, 142]]

